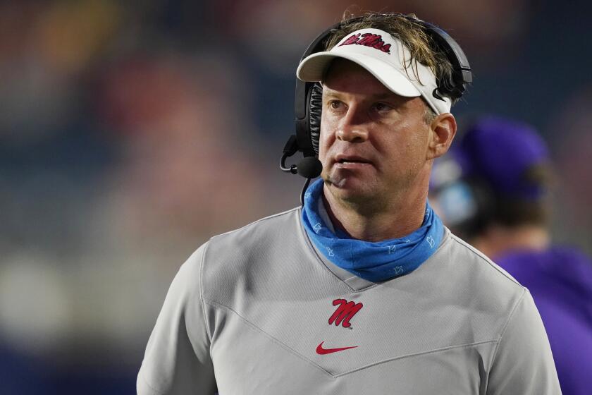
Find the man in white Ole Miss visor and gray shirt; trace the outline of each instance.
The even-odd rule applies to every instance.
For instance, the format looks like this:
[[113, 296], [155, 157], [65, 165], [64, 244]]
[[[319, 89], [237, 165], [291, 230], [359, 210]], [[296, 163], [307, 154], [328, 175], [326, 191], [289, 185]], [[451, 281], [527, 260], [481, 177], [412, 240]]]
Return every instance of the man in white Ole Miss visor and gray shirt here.
[[214, 375], [220, 394], [560, 394], [529, 292], [426, 205], [456, 122], [425, 29], [373, 14], [303, 59], [322, 178], [181, 267], [139, 394], [210, 394]]

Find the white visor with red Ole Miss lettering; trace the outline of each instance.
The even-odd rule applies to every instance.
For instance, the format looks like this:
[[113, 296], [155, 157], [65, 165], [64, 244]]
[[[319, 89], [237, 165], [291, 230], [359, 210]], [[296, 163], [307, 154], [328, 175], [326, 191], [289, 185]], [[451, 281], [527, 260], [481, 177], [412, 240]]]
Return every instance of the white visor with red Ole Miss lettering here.
[[303, 81], [320, 82], [335, 58], [359, 64], [397, 95], [424, 97], [436, 114], [450, 112], [451, 102], [448, 97], [440, 100], [432, 95], [438, 85], [431, 68], [412, 62], [409, 49], [388, 32], [378, 29], [356, 30], [331, 50], [307, 56], [300, 62], [296, 75]]

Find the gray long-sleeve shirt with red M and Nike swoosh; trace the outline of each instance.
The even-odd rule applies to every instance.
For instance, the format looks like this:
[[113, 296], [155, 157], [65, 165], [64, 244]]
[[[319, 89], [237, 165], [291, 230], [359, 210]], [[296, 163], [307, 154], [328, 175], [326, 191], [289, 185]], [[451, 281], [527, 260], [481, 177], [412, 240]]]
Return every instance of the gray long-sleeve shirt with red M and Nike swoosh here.
[[[214, 379], [215, 375], [215, 379]], [[380, 284], [325, 260], [300, 209], [211, 238], [181, 267], [137, 392], [561, 394], [526, 288], [445, 232]]]

